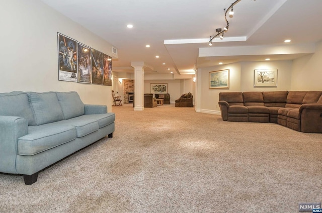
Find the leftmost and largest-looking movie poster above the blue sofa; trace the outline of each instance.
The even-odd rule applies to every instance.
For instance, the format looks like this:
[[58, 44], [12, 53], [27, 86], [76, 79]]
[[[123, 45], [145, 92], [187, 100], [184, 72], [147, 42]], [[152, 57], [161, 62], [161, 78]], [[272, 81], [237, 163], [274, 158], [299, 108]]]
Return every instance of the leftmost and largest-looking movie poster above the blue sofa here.
[[58, 80], [77, 82], [77, 41], [58, 34]]

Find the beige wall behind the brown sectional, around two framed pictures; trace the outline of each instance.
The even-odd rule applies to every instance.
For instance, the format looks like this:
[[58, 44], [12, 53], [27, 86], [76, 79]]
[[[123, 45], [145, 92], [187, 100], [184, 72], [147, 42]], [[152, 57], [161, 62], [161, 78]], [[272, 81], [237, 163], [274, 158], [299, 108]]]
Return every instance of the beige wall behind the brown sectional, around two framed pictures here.
[[[254, 87], [254, 69], [268, 68], [276, 68], [278, 70], [277, 87]], [[209, 72], [223, 69], [229, 69], [229, 88], [209, 89]], [[197, 71], [197, 76], [198, 102], [196, 105], [196, 111], [210, 114], [220, 114], [220, 109], [218, 106], [219, 92], [290, 90], [292, 61], [240, 62], [224, 66], [199, 68]]]

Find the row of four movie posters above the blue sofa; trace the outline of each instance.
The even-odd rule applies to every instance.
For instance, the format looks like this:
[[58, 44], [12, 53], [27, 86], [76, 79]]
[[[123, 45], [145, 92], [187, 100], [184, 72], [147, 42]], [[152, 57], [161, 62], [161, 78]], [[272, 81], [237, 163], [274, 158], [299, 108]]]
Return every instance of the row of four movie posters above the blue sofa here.
[[112, 86], [112, 57], [58, 33], [59, 80]]

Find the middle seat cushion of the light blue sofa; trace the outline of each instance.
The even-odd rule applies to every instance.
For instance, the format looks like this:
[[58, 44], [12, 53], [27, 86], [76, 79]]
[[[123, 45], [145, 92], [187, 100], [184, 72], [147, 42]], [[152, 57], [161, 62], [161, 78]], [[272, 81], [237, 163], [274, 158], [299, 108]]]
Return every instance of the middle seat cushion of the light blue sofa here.
[[99, 124], [95, 119], [86, 119], [86, 117], [84, 116], [79, 116], [68, 120], [58, 121], [56, 122], [56, 124], [75, 127], [77, 138], [86, 136], [99, 129]]

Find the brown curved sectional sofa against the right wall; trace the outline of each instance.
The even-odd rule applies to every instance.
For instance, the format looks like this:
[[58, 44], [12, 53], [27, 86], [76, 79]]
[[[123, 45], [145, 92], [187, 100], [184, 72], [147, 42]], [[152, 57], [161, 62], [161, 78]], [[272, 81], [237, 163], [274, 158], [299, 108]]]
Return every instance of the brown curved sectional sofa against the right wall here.
[[322, 133], [322, 91], [220, 92], [223, 121], [271, 122]]

